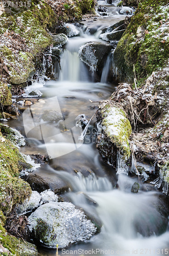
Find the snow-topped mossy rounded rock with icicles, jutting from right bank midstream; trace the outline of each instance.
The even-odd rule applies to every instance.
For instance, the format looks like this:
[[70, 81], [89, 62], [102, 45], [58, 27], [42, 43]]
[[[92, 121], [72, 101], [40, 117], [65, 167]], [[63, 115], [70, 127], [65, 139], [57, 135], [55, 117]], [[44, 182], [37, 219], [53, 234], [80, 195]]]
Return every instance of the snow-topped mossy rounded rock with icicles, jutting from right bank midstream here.
[[120, 161], [127, 161], [130, 157], [131, 125], [125, 112], [111, 104], [111, 101], [103, 101], [99, 105], [96, 118], [96, 147], [103, 160], [116, 167], [117, 152], [119, 152], [123, 155], [120, 156]]

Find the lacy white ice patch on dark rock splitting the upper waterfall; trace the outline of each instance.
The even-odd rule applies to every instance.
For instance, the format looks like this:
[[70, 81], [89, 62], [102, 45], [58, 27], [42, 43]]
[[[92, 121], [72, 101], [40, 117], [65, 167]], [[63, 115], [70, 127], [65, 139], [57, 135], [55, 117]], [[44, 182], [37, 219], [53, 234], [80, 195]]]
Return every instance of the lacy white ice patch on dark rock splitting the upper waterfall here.
[[98, 59], [94, 55], [95, 50], [93, 51], [90, 44], [86, 44], [80, 47], [78, 55], [80, 59], [90, 67], [90, 71], [94, 73], [97, 69]]

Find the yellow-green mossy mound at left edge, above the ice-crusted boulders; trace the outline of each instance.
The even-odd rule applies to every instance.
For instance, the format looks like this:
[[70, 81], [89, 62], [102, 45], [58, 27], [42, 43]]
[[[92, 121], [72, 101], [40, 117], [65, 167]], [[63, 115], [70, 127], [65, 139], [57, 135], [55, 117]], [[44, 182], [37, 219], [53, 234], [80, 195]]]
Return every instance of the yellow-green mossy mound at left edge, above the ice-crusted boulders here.
[[18, 148], [0, 135], [0, 210], [9, 214], [13, 207], [30, 197], [31, 187], [19, 177], [22, 169], [19, 162], [25, 162]]

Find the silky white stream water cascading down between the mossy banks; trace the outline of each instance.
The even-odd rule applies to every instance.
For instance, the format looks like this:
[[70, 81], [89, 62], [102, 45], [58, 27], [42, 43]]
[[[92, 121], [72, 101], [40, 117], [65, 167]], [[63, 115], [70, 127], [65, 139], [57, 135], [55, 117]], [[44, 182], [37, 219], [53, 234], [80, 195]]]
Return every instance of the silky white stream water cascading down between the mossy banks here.
[[[116, 7], [113, 6], [110, 6], [110, 12], [113, 13], [113, 8], [116, 13]], [[113, 15], [108, 19], [99, 18], [95, 23], [84, 22], [84, 26], [88, 26], [89, 30], [96, 28], [94, 35], [83, 33], [81, 30], [80, 36], [69, 38], [61, 56], [58, 81], [35, 82], [32, 86], [43, 93], [43, 100], [38, 102], [37, 99], [32, 99], [36, 103], [31, 107], [33, 114], [38, 115], [40, 111], [60, 108], [66, 125], [75, 127], [78, 115], [85, 115], [89, 120], [96, 111], [97, 102], [111, 96], [116, 86], [107, 82], [111, 57], [108, 56], [105, 63], [101, 82], [93, 82], [92, 74], [78, 57], [78, 49], [86, 42], [101, 41], [98, 37], [98, 28], [108, 26], [124, 17], [119, 14], [114, 17]], [[20, 106], [20, 110], [24, 110], [23, 106]], [[167, 218], [158, 210], [165, 207], [163, 200], [160, 200], [161, 193], [152, 187], [152, 190], [147, 189], [147, 184], [143, 184], [138, 194], [132, 194], [131, 187], [137, 179], [123, 174], [117, 176], [111, 166], [103, 163], [94, 145], [94, 118], [82, 143], [78, 140], [81, 130], [72, 140], [71, 134], [59, 133], [60, 128], [55, 123], [43, 122], [41, 126], [36, 127], [35, 123], [31, 124], [29, 112], [24, 113], [28, 118], [24, 123], [26, 131], [23, 129], [23, 119], [26, 117], [21, 115], [17, 122], [9, 122], [12, 127], [27, 134], [28, 146], [22, 147], [21, 151], [27, 154], [50, 152], [49, 155], [52, 156], [50, 166], [42, 165], [35, 173], [43, 173], [46, 177], [57, 176], [64, 180], [70, 189], [62, 195], [63, 198], [83, 208], [96, 222], [102, 223], [100, 233], [85, 243], [60, 250], [59, 255], [169, 254]], [[65, 127], [64, 130], [66, 131]], [[72, 131], [74, 132], [73, 129]], [[60, 153], [57, 155], [57, 152]], [[56, 250], [41, 247], [39, 255], [54, 256]]]

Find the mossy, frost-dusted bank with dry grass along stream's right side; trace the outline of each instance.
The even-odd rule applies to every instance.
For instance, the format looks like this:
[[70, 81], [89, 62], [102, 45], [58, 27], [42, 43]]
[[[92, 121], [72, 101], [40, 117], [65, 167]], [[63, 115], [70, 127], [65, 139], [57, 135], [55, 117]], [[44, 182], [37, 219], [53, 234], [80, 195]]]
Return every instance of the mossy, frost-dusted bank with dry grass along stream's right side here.
[[[142, 171], [146, 171], [150, 176], [156, 174], [157, 179], [153, 183], [166, 194], [169, 181], [168, 57], [168, 3], [142, 1], [113, 54], [116, 76], [126, 82], [119, 84], [109, 104], [113, 108], [118, 107], [119, 111], [123, 109], [133, 128], [129, 139], [131, 157], [128, 168], [131, 173], [142, 175]], [[109, 109], [107, 102], [102, 102], [99, 108], [101, 113]], [[110, 118], [118, 120], [119, 115], [112, 113]], [[105, 161], [113, 165], [114, 160], [110, 161], [109, 156], [117, 155], [116, 151], [120, 152], [121, 148], [115, 143], [114, 149], [110, 132], [108, 134], [111, 128], [112, 134], [116, 131], [115, 123], [108, 125], [107, 122], [106, 127], [103, 114], [98, 115], [97, 123], [97, 127], [101, 125], [103, 130], [98, 129], [97, 147]], [[123, 136], [120, 130], [117, 133], [118, 138]], [[100, 139], [102, 137], [107, 141], [106, 145]], [[118, 170], [117, 162], [115, 160]], [[140, 169], [137, 168], [139, 162], [154, 167], [151, 170]]]

